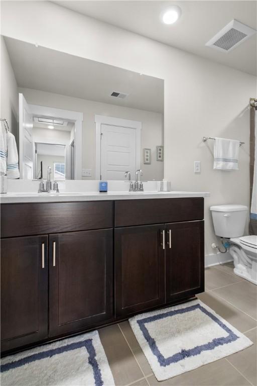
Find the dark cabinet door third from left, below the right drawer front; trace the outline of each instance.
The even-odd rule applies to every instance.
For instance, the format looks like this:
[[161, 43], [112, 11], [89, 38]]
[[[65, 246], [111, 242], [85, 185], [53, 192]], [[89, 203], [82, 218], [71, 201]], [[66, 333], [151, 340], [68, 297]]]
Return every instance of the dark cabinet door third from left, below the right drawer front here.
[[115, 229], [116, 317], [164, 303], [163, 231], [163, 224]]

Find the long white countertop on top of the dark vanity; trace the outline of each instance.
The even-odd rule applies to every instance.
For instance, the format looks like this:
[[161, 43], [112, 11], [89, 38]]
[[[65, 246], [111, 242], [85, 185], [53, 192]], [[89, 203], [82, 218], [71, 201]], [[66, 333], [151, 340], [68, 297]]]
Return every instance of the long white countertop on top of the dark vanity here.
[[1, 204], [15, 203], [56, 203], [71, 201], [137, 200], [137, 199], [172, 199], [186, 197], [209, 197], [208, 192], [199, 191], [77, 191], [60, 193], [9, 192], [0, 194]]

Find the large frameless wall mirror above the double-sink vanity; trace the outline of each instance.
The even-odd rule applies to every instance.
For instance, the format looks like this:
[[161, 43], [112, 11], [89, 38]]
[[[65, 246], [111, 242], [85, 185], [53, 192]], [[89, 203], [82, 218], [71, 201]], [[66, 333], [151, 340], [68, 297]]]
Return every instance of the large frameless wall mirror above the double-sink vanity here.
[[[21, 178], [163, 179], [164, 81], [5, 38]], [[127, 173], [129, 172], [129, 173]], [[125, 176], [126, 173], [126, 176]]]

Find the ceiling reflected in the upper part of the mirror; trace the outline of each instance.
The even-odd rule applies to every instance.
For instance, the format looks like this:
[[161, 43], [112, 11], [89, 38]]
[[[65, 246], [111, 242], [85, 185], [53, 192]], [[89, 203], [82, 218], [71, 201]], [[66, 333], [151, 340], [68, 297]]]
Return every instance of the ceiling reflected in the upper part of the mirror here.
[[[164, 81], [5, 37], [20, 87], [162, 113]], [[113, 98], [112, 91], [128, 93]]]

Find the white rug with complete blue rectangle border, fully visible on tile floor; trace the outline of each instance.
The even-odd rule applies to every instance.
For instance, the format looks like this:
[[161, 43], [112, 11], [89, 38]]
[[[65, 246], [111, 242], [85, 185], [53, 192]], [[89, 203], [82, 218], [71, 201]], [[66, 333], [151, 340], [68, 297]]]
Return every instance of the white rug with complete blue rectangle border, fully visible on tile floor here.
[[252, 345], [198, 300], [129, 320], [158, 380], [193, 370]]

